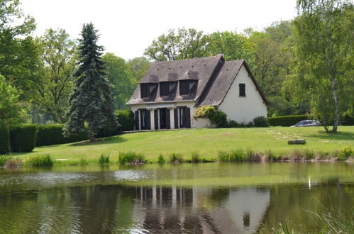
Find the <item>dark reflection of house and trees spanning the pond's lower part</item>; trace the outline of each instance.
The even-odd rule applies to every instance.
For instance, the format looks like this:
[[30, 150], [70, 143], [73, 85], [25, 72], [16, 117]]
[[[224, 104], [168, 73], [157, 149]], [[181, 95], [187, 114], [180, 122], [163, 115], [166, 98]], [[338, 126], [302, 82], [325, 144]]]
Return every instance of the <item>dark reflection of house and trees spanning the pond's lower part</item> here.
[[[329, 195], [329, 196], [328, 196]], [[331, 201], [329, 201], [331, 197]], [[287, 221], [316, 230], [314, 216], [353, 187], [182, 188], [72, 186], [0, 193], [0, 233], [253, 233]], [[311, 222], [313, 221], [313, 222]], [[300, 225], [300, 227], [299, 227]]]

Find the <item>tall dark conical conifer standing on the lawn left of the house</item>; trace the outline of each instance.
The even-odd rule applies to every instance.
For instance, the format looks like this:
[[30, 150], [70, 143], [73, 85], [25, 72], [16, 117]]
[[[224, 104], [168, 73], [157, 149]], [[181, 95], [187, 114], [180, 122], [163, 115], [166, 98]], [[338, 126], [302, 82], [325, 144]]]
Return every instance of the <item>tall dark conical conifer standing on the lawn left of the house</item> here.
[[105, 78], [104, 62], [101, 61], [102, 46], [96, 45], [99, 35], [92, 23], [82, 27], [79, 39], [79, 62], [75, 72], [74, 91], [69, 99], [67, 123], [64, 134], [72, 135], [88, 127], [91, 141], [100, 128], [116, 126], [111, 96], [111, 84]]

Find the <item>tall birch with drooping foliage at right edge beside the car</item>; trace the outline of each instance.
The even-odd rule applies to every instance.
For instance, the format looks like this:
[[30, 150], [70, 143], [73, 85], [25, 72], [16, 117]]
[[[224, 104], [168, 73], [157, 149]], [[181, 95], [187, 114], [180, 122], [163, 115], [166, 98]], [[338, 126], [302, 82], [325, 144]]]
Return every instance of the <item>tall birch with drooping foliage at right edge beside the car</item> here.
[[294, 99], [308, 99], [311, 116], [337, 131], [341, 113], [353, 108], [353, 3], [297, 1], [294, 20], [294, 71], [288, 88]]

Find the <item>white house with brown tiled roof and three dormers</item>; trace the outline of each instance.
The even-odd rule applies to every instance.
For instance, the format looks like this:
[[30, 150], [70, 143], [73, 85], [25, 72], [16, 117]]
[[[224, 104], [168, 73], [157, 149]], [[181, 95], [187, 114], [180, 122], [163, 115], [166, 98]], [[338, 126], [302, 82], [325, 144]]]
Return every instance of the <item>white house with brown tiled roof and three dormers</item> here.
[[193, 118], [199, 106], [216, 106], [238, 123], [267, 116], [267, 99], [245, 60], [226, 62], [223, 55], [154, 62], [127, 105], [135, 130], [210, 127]]

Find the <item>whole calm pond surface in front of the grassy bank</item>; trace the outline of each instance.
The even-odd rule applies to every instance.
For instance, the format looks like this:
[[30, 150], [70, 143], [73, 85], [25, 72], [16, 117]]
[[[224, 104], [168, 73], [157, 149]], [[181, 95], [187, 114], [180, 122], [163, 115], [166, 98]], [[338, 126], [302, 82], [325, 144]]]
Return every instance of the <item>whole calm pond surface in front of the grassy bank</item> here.
[[0, 169], [0, 233], [316, 233], [353, 205], [345, 162]]

